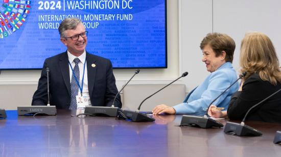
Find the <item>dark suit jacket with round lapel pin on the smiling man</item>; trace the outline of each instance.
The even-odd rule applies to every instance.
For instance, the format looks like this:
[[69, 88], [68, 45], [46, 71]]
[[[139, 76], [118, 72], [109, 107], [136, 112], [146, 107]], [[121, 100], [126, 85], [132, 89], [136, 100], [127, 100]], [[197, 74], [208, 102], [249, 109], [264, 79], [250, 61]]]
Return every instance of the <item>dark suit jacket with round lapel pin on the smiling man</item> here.
[[[88, 89], [92, 106], [110, 107], [115, 95], [118, 93], [111, 62], [108, 59], [86, 53], [86, 63]], [[92, 67], [92, 64], [96, 64], [96, 67]], [[33, 95], [32, 106], [47, 104], [46, 67], [50, 69], [50, 104], [56, 106], [57, 109], [68, 109], [71, 88], [67, 52], [45, 60], [38, 88]], [[117, 96], [114, 106], [122, 107], [120, 95]]]

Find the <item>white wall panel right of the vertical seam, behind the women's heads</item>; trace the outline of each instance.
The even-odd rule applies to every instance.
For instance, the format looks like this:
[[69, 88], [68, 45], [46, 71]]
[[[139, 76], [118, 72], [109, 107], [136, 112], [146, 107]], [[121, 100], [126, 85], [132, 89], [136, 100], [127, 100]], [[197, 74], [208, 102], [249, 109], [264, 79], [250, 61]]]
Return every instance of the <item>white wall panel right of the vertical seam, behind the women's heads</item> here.
[[239, 69], [240, 45], [245, 33], [263, 32], [269, 36], [281, 57], [281, 1], [215, 0], [214, 32], [223, 32], [236, 42], [233, 65]]

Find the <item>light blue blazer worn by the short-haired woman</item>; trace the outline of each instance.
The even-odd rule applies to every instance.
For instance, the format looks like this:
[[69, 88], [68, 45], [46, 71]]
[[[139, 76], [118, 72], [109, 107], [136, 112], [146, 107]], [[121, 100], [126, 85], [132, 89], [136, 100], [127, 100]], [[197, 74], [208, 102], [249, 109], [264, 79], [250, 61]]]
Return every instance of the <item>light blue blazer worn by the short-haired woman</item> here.
[[[216, 71], [210, 73], [201, 85], [191, 91], [182, 103], [173, 107], [176, 114], [204, 115], [209, 104], [236, 80], [237, 73], [232, 64], [224, 63]], [[238, 88], [239, 83], [237, 82], [213, 104], [227, 110], [230, 97]]]

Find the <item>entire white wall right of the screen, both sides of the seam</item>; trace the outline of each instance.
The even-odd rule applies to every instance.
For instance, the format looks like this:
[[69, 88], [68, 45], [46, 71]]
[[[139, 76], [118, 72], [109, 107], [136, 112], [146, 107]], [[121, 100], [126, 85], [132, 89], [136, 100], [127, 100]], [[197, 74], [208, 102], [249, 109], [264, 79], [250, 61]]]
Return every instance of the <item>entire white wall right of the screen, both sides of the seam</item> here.
[[279, 0], [179, 0], [180, 68], [189, 71], [183, 80], [187, 92], [204, 80], [208, 72], [199, 48], [210, 32], [226, 33], [236, 42], [233, 67], [239, 72], [241, 41], [247, 32], [263, 32], [281, 57], [281, 1]]

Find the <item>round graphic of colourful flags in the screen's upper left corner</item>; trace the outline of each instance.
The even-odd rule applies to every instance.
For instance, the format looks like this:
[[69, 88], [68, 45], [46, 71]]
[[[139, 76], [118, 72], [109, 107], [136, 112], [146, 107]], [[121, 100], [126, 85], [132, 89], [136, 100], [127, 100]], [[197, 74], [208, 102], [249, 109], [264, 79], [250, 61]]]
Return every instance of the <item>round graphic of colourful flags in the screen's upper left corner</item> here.
[[0, 6], [0, 39], [9, 37], [20, 29], [26, 22], [30, 9], [30, 1], [3, 0]]

